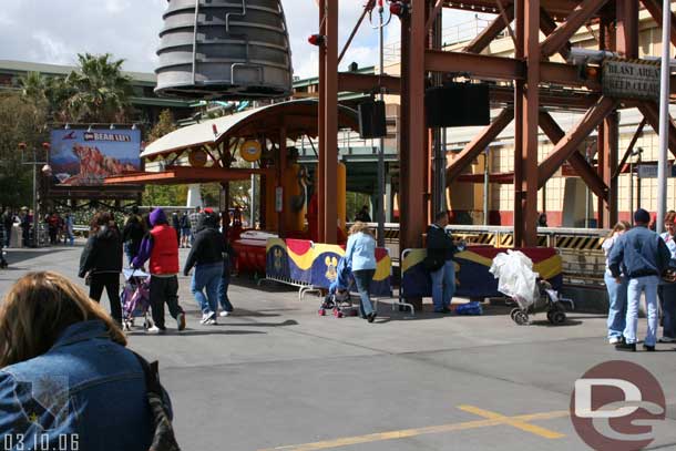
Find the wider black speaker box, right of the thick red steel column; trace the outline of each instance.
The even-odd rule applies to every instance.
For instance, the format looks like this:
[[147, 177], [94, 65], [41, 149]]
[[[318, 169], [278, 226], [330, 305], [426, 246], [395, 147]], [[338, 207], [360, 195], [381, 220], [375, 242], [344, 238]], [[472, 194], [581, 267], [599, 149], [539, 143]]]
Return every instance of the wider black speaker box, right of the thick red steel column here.
[[468, 126], [491, 123], [488, 84], [450, 83], [424, 92], [427, 126]]

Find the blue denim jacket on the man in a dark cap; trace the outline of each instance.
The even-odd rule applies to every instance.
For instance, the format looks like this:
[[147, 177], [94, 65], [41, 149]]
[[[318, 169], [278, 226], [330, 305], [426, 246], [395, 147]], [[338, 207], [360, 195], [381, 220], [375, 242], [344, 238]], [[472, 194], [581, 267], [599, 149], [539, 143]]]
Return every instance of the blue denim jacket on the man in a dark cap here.
[[662, 276], [669, 265], [672, 253], [664, 240], [647, 227], [634, 227], [624, 233], [613, 245], [608, 268], [613, 277], [622, 273], [628, 278]]

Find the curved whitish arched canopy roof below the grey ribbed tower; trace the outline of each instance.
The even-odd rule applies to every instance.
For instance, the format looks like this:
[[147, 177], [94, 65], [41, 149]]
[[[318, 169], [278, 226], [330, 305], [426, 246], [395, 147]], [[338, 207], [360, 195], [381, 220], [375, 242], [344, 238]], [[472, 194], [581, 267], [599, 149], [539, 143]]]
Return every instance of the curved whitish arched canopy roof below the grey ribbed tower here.
[[[297, 140], [301, 135], [317, 136], [319, 103], [313, 99], [294, 100], [250, 109], [240, 113], [204, 121], [178, 129], [154, 141], [141, 153], [142, 158], [155, 158], [201, 146], [215, 146], [231, 137], [257, 137], [278, 142], [280, 130]], [[338, 127], [358, 129], [357, 112], [347, 106], [338, 107]]]

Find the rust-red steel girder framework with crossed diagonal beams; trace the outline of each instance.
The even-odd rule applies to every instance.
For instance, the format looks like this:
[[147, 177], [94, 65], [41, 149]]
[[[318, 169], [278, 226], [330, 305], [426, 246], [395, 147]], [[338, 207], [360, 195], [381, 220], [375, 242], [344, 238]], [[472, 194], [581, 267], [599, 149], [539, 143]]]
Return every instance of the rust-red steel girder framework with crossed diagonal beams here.
[[[583, 73], [578, 66], [550, 61], [565, 57], [571, 38], [590, 24], [598, 25], [600, 50], [619, 58], [638, 58], [638, 11], [643, 7], [657, 23], [662, 22], [658, 0], [401, 0], [401, 76], [378, 76], [338, 72], [338, 0], [319, 0], [319, 33], [326, 37], [319, 51], [319, 176], [321, 238], [335, 243], [335, 173], [337, 164], [338, 91], [399, 94], [400, 110], [400, 248], [420, 247], [430, 217], [431, 135], [424, 123], [424, 90], [433, 73], [468, 74], [472, 80], [498, 82], [491, 88], [493, 105], [503, 110], [458, 154], [447, 167], [447, 184], [458, 178], [498, 134], [512, 121], [515, 124], [514, 244], [536, 246], [537, 191], [567, 162], [598, 197], [598, 225], [617, 221], [618, 120], [617, 110], [638, 107], [647, 122], [658, 130], [658, 107], [651, 101], [604, 96], [598, 70]], [[366, 4], [372, 9], [375, 2]], [[432, 48], [434, 21], [441, 8], [499, 11], [493, 22], [462, 51]], [[514, 29], [512, 29], [514, 21]], [[357, 27], [361, 23], [361, 19]], [[676, 44], [676, 17], [670, 39]], [[481, 52], [508, 29], [514, 41], [513, 58]], [[540, 39], [543, 34], [544, 40]], [[349, 45], [349, 42], [348, 42]], [[345, 49], [341, 55], [345, 54]], [[676, 83], [672, 82], [672, 86]], [[564, 93], [562, 95], [562, 92]], [[580, 122], [563, 131], [547, 107], [584, 110]], [[554, 144], [543, 161], [537, 158], [539, 129]], [[597, 164], [587, 163], [578, 152], [584, 140], [597, 131]], [[637, 132], [638, 133], [638, 132]], [[635, 140], [633, 140], [633, 143]], [[629, 147], [633, 147], [633, 143]], [[676, 155], [676, 126], [670, 121], [669, 150]], [[628, 150], [631, 152], [631, 148]], [[625, 158], [623, 158], [624, 161]], [[501, 174], [496, 174], [500, 177]], [[321, 178], [322, 177], [322, 178]], [[326, 201], [325, 201], [326, 199]]]

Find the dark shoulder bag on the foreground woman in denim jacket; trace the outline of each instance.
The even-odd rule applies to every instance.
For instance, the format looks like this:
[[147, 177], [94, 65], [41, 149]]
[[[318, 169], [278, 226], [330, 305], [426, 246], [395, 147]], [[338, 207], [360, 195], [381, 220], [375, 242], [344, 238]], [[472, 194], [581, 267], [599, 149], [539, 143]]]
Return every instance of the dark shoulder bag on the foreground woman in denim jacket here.
[[174, 427], [172, 426], [170, 408], [165, 401], [165, 390], [160, 383], [160, 370], [157, 361], [148, 363], [143, 357], [132, 351], [145, 375], [145, 387], [147, 393], [147, 402], [151, 408], [153, 420], [153, 442], [148, 451], [181, 451], [181, 447], [176, 442]]

